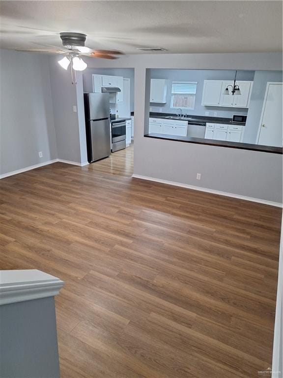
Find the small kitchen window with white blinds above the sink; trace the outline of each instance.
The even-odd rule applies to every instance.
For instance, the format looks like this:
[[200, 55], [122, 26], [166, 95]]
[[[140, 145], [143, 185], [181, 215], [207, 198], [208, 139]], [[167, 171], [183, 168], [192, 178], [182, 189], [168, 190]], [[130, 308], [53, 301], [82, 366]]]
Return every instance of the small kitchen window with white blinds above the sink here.
[[195, 109], [197, 84], [195, 81], [173, 81], [171, 108]]

